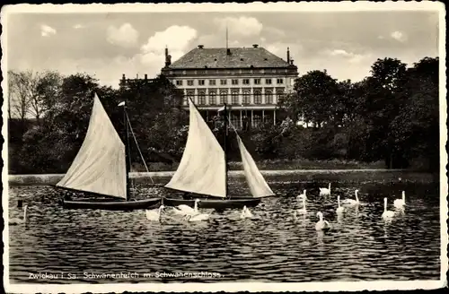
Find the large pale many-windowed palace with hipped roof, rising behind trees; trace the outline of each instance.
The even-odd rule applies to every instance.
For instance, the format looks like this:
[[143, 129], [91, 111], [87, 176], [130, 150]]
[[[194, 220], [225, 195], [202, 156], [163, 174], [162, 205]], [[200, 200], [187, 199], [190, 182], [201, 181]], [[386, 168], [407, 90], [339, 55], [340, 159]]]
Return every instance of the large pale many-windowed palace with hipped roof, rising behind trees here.
[[287, 48], [286, 60], [265, 48], [204, 48], [199, 45], [172, 63], [165, 49], [162, 69], [184, 92], [184, 103], [192, 99], [207, 121], [224, 103], [237, 128], [276, 124], [277, 101], [293, 90], [297, 67]]

